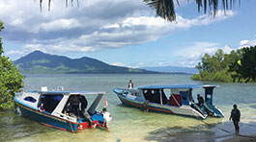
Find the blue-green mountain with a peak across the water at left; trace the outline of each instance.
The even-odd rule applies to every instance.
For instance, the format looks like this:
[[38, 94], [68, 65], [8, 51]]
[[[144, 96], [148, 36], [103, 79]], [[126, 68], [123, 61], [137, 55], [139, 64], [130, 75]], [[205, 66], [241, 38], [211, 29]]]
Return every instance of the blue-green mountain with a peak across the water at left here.
[[110, 65], [98, 59], [83, 57], [70, 59], [64, 56], [34, 51], [14, 61], [18, 71], [23, 74], [151, 74], [158, 73]]

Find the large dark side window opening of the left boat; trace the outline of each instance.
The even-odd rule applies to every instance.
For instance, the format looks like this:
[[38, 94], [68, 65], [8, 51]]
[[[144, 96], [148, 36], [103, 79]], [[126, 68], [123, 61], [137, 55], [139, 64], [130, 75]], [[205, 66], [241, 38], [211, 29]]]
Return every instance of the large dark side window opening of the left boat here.
[[51, 113], [55, 109], [55, 107], [59, 105], [62, 98], [63, 94], [43, 94], [41, 96], [40, 103], [38, 106], [40, 106], [43, 103], [43, 108], [45, 109], [45, 111]]

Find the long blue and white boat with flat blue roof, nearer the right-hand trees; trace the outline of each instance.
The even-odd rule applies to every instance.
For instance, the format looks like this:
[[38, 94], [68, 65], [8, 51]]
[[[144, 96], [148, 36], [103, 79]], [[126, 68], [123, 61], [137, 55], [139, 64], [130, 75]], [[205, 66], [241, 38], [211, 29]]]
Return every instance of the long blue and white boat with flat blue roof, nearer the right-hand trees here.
[[[113, 91], [128, 106], [206, 119], [207, 116], [224, 117], [222, 111], [213, 105], [214, 87], [216, 85], [149, 85], [132, 89], [114, 88]], [[194, 103], [194, 88], [205, 89], [203, 106]]]

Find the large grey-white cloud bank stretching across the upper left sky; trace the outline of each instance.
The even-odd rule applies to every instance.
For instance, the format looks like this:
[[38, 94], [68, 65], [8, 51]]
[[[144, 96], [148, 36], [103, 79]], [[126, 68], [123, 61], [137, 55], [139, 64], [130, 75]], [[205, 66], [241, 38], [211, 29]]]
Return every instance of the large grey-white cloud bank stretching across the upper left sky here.
[[[174, 31], [208, 25], [235, 14], [218, 11], [214, 18], [201, 15], [190, 19], [178, 14], [177, 22], [167, 22], [137, 0], [79, 2], [79, 8], [74, 1], [74, 6], [66, 9], [63, 0], [54, 0], [51, 11], [47, 12], [47, 2], [43, 1], [43, 12], [40, 12], [38, 1], [0, 0], [5, 38], [25, 43], [24, 52], [96, 52], [154, 41]], [[212, 52], [212, 48], [205, 50]], [[200, 54], [195, 52], [190, 56]]]

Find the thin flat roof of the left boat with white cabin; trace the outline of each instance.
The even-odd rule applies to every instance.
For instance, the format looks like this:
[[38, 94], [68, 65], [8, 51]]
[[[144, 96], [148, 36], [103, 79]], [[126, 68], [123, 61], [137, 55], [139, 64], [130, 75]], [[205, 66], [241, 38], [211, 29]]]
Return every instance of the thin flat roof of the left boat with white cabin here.
[[35, 91], [35, 93], [40, 93], [40, 94], [49, 94], [49, 95], [100, 95], [100, 94], [105, 94], [105, 92], [92, 92], [92, 91]]

